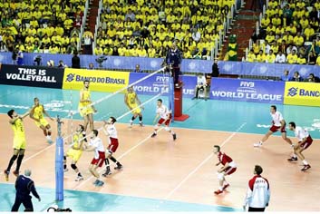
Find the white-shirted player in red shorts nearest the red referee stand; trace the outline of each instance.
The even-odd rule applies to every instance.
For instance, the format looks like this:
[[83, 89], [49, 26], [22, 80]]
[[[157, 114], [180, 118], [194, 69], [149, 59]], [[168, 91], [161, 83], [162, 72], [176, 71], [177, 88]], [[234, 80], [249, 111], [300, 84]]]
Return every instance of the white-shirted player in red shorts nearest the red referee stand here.
[[165, 106], [162, 103], [162, 100], [159, 99], [157, 101], [157, 114], [156, 117], [154, 118], [153, 123], [157, 122], [157, 119], [160, 117], [160, 120], [158, 121], [158, 123], [154, 126], [154, 131], [151, 134], [151, 138], [154, 138], [157, 136], [157, 131], [159, 130], [160, 125], [164, 124], [165, 125], [165, 131], [169, 131], [172, 134], [172, 138], [173, 141], [176, 141], [177, 139], [177, 134], [175, 132], [173, 132], [172, 130], [170, 130], [169, 126], [170, 126], [170, 122], [171, 122], [171, 118], [172, 118], [172, 114], [169, 111], [169, 109], [167, 108], [167, 106]]

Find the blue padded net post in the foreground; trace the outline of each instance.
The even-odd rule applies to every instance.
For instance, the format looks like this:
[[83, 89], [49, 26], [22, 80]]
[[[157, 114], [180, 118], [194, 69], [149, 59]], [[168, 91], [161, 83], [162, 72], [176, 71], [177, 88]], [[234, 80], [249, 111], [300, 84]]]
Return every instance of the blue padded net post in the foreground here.
[[55, 200], [63, 200], [63, 137], [61, 134], [62, 121], [57, 116], [58, 136], [55, 149]]

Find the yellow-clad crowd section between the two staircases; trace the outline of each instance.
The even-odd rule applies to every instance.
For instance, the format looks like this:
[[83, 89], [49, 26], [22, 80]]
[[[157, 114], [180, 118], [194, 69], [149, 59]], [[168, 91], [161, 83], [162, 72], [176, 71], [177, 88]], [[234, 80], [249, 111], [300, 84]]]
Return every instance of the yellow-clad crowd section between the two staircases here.
[[206, 58], [235, 0], [103, 0], [96, 55], [164, 57], [175, 42], [184, 58]]

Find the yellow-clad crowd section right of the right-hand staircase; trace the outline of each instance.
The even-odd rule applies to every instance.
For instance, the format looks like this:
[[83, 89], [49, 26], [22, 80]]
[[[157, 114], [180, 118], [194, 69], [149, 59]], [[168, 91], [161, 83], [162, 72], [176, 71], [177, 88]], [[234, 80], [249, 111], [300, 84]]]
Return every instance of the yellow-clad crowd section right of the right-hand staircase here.
[[320, 0], [269, 0], [247, 62], [320, 65]]

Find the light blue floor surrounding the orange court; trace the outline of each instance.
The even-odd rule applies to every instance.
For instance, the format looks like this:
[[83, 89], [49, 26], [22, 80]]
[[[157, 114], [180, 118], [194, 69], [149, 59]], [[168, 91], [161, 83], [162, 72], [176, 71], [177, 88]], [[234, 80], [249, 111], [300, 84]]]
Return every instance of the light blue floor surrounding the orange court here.
[[[92, 100], [103, 99], [110, 93], [92, 92]], [[79, 91], [65, 91], [57, 89], [32, 88], [22, 86], [0, 85], [0, 113], [6, 113], [15, 109], [23, 113], [33, 105], [34, 97], [38, 97], [51, 116], [60, 115], [70, 119], [70, 112], [77, 110]], [[152, 99], [151, 96], [139, 95], [141, 102]], [[166, 105], [168, 98], [161, 97]], [[151, 125], [155, 116], [156, 100], [144, 105], [143, 122]], [[271, 122], [268, 103], [256, 102], [226, 102], [183, 100], [183, 113], [189, 114], [186, 122], [173, 122], [173, 127], [211, 130], [211, 131], [237, 131], [246, 122], [240, 132], [264, 134]], [[123, 116], [128, 109], [123, 102], [123, 94], [111, 96], [97, 104], [99, 110], [94, 115], [95, 121], [106, 120], [110, 116], [120, 118], [119, 122], [129, 122], [131, 114]], [[277, 105], [286, 122], [294, 121], [297, 125], [305, 127], [314, 139], [320, 139], [319, 108], [304, 106]], [[81, 119], [79, 114], [73, 115], [73, 119]], [[289, 136], [293, 136], [289, 131]], [[37, 187], [42, 195], [42, 203], [34, 201], [34, 209], [42, 211], [55, 204], [54, 190]], [[15, 199], [15, 187], [12, 184], [0, 183], [0, 211], [8, 211]], [[35, 199], [34, 199], [35, 200]], [[76, 200], [77, 207], [70, 204]], [[97, 210], [99, 203], [101, 210]], [[104, 206], [102, 206], [102, 204]], [[191, 204], [179, 201], [144, 199], [130, 196], [101, 194], [65, 190], [65, 200], [58, 203], [59, 207], [71, 207], [74, 211], [239, 211], [239, 209], [221, 206], [208, 206]], [[81, 205], [81, 206], [79, 206]]]

